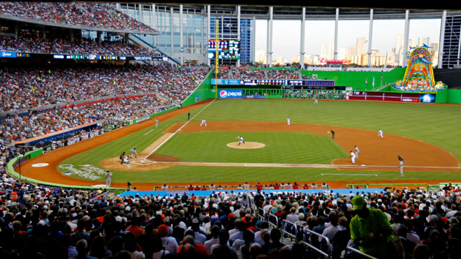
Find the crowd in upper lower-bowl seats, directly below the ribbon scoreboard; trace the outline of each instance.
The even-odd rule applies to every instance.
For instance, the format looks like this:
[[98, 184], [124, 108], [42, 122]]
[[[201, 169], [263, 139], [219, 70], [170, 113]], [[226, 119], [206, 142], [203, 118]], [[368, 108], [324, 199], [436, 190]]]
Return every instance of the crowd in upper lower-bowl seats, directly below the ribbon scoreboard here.
[[0, 110], [159, 91], [173, 101], [189, 96], [207, 71], [174, 66], [73, 66], [0, 68]]

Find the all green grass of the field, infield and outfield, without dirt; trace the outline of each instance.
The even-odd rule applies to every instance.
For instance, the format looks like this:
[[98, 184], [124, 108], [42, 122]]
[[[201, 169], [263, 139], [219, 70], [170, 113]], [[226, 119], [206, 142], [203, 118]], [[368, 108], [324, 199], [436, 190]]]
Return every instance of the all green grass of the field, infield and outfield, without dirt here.
[[[191, 117], [198, 111], [193, 110]], [[392, 133], [429, 142], [461, 158], [461, 106], [460, 105], [415, 105], [409, 103], [368, 103], [353, 101], [286, 100], [237, 100], [215, 101], [192, 121], [286, 121], [292, 123], [325, 124], [363, 128], [370, 131], [383, 129]], [[145, 149], [175, 122], [186, 121], [186, 116], [161, 121], [158, 129], [143, 135], [154, 127], [127, 135], [96, 149], [68, 158], [63, 163], [74, 165], [98, 165], [104, 158], [119, 156], [122, 151], [137, 147]], [[109, 133], [110, 134], [110, 133]], [[224, 136], [223, 136], [224, 134]], [[264, 142], [263, 149], [242, 150], [225, 147], [235, 141], [235, 136], [244, 135], [246, 141]], [[230, 135], [229, 139], [225, 135]], [[193, 136], [193, 138], [189, 137]], [[219, 161], [247, 163], [330, 163], [346, 153], [329, 138], [308, 133], [241, 133], [203, 132], [180, 133], [170, 139], [156, 154], [177, 156], [181, 161]], [[267, 143], [266, 143], [267, 142]], [[293, 144], [294, 143], [294, 144]], [[306, 143], [306, 145], [303, 145]], [[223, 146], [224, 145], [224, 146]], [[313, 150], [311, 150], [311, 148]], [[223, 156], [224, 155], [224, 156]], [[223, 159], [224, 161], [221, 161]], [[424, 159], [424, 158], [421, 158]], [[261, 160], [261, 161], [260, 161]], [[62, 171], [62, 170], [61, 170]], [[319, 168], [215, 168], [177, 166], [151, 172], [115, 172], [113, 181], [124, 182], [244, 182], [244, 181], [328, 181], [328, 180], [379, 180], [389, 182], [402, 179], [395, 172], [366, 172], [370, 176], [329, 176], [321, 174], [353, 171], [338, 171]], [[375, 177], [374, 175], [379, 175]], [[165, 177], [168, 175], [168, 177]], [[405, 179], [461, 179], [459, 173], [406, 172]]]

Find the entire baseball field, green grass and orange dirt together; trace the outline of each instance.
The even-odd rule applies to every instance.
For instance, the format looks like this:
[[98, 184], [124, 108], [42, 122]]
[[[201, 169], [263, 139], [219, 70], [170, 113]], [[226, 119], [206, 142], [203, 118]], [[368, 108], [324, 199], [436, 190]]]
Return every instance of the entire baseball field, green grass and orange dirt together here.
[[[460, 105], [209, 100], [158, 118], [158, 128], [154, 118], [33, 158], [22, 175], [91, 186], [103, 184], [111, 170], [112, 186], [131, 182], [145, 190], [163, 184], [461, 182]], [[240, 135], [245, 143], [237, 146]], [[355, 165], [349, 157], [354, 145], [360, 148]], [[121, 164], [120, 154], [131, 155], [133, 147], [138, 158]], [[404, 158], [404, 176], [397, 155]]]

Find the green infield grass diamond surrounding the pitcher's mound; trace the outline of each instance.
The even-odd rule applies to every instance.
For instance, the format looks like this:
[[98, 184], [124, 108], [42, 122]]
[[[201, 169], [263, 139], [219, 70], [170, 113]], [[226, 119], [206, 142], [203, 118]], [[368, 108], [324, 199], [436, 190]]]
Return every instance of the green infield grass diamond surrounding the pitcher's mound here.
[[[238, 141], [237, 135], [242, 135], [246, 142], [261, 142], [266, 146], [261, 149], [227, 147], [228, 143]], [[178, 133], [156, 154], [176, 156], [185, 162], [221, 163], [330, 163], [347, 156], [336, 142], [324, 135], [238, 131]]]

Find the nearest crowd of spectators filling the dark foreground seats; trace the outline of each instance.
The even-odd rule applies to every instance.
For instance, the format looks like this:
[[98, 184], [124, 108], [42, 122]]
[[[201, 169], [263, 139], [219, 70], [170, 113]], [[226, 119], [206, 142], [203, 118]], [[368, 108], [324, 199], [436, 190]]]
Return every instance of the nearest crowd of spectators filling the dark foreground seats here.
[[[339, 258], [348, 245], [364, 250], [376, 246], [376, 238], [386, 240], [376, 232], [358, 242], [351, 222], [361, 212], [354, 200], [383, 215], [388, 235], [400, 238], [407, 258], [456, 258], [461, 249], [461, 191], [451, 185], [434, 193], [217, 191], [201, 198], [108, 199], [101, 190], [50, 188], [3, 175], [0, 191], [1, 258], [312, 258], [316, 252], [304, 242], [323, 251], [327, 246], [312, 232], [327, 237], [332, 258]], [[291, 224], [270, 228], [272, 221], [261, 221], [258, 208], [296, 230], [286, 227]], [[284, 231], [295, 232], [300, 242], [282, 244]]]

